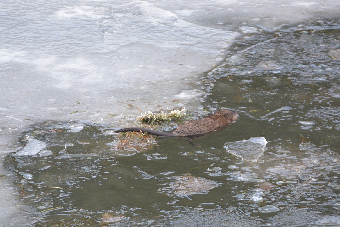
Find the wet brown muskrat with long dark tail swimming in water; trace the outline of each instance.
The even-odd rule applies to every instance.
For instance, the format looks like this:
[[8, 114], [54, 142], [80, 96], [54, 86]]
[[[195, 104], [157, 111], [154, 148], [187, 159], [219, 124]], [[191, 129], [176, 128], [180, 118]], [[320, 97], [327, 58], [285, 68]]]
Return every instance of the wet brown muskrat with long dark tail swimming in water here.
[[122, 128], [114, 132], [141, 131], [156, 136], [182, 136], [182, 137], [186, 136], [188, 137], [187, 141], [189, 143], [196, 145], [192, 143], [191, 140], [198, 139], [204, 135], [210, 134], [214, 131], [220, 130], [223, 127], [230, 125], [234, 120], [237, 119], [237, 116], [238, 115], [234, 110], [216, 111], [214, 114], [203, 119], [185, 121], [182, 125], [178, 126], [175, 130], [173, 130], [172, 133], [138, 127]]

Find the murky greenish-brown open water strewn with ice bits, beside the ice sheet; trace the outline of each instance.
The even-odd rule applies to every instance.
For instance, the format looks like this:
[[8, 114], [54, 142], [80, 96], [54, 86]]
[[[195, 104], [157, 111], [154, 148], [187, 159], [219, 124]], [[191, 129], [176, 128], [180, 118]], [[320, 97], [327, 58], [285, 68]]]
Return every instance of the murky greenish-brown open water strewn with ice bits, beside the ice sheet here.
[[[242, 37], [206, 74], [209, 95], [192, 110], [232, 108], [239, 119], [200, 147], [157, 138], [117, 149], [112, 126], [32, 126], [19, 152], [40, 152], [8, 156], [7, 167], [37, 209], [35, 226], [340, 225], [339, 29], [318, 21]], [[257, 161], [227, 152], [252, 151], [238, 143], [252, 137], [268, 141]]]

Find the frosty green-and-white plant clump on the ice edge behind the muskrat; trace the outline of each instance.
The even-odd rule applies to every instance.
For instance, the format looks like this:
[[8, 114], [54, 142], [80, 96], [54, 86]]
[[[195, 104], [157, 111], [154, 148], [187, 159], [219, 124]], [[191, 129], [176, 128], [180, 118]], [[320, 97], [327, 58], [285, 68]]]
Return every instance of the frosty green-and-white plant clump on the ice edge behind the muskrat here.
[[162, 123], [183, 118], [186, 115], [185, 111], [185, 108], [182, 110], [173, 110], [170, 113], [164, 113], [163, 111], [153, 113], [148, 111], [148, 113], [141, 114], [140, 117], [137, 117], [137, 120], [149, 124]]

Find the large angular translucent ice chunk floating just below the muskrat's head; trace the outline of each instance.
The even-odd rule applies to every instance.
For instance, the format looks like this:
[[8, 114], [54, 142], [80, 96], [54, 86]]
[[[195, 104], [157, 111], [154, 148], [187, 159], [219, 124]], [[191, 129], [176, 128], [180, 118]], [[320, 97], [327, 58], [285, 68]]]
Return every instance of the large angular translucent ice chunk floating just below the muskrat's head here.
[[227, 152], [249, 162], [256, 162], [265, 151], [265, 137], [252, 137], [249, 140], [228, 142], [224, 144]]

